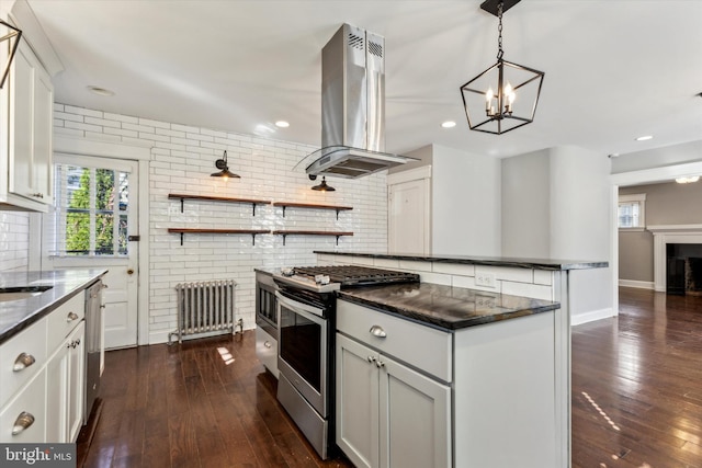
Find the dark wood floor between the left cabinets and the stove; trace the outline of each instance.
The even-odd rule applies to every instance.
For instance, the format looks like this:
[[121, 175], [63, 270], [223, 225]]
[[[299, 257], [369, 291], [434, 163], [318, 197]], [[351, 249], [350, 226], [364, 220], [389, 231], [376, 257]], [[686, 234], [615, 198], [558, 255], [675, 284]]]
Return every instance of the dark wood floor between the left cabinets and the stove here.
[[[322, 461], [275, 400], [246, 331], [105, 353], [86, 467], [352, 467]], [[80, 452], [80, 449], [79, 449]]]

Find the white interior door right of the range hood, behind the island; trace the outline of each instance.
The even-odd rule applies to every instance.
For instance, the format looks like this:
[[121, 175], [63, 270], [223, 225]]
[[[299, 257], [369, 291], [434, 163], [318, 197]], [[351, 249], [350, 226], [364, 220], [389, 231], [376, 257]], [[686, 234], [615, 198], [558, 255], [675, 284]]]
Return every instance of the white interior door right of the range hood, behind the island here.
[[431, 253], [429, 181], [400, 182], [388, 186], [388, 249], [394, 253]]

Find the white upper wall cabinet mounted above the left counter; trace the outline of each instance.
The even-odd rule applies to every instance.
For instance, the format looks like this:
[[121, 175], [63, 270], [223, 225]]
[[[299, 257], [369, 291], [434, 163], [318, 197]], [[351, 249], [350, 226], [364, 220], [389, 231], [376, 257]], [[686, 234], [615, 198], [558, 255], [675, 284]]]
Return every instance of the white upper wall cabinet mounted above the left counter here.
[[0, 204], [46, 213], [53, 199], [54, 87], [26, 42], [0, 90]]

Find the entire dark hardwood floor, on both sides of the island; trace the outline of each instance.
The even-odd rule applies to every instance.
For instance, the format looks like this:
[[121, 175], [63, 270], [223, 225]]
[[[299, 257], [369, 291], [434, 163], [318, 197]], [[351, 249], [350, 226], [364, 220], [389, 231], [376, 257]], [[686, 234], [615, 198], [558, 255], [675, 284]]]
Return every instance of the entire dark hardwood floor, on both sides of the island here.
[[[107, 352], [101, 397], [86, 467], [351, 466], [278, 404], [252, 331]], [[702, 468], [702, 297], [621, 288], [573, 329], [573, 468], [614, 467]]]

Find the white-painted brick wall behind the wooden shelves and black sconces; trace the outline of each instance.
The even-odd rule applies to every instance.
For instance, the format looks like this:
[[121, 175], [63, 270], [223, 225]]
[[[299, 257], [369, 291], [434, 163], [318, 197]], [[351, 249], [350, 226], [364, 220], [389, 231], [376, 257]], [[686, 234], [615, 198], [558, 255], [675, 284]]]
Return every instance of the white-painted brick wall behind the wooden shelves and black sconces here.
[[[149, 342], [163, 342], [176, 329], [174, 286], [181, 282], [233, 278], [237, 282], [237, 317], [245, 328], [254, 326], [253, 269], [316, 262], [314, 250], [387, 250], [386, 176], [359, 180], [328, 179], [336, 192], [314, 192], [304, 169], [293, 167], [316, 148], [250, 135], [191, 127], [168, 122], [55, 105], [55, 133], [93, 140], [151, 146], [149, 173]], [[240, 180], [211, 178], [214, 162], [227, 150], [229, 168]], [[303, 210], [270, 205], [169, 201], [169, 193], [208, 194], [273, 202], [321, 203], [352, 206], [339, 219], [329, 210]], [[169, 227], [233, 229], [306, 229], [353, 231], [336, 246], [333, 237], [190, 235], [184, 246]]]

